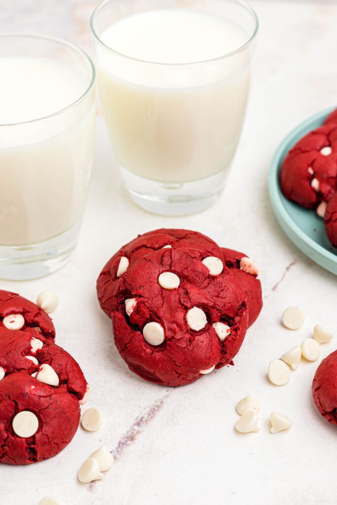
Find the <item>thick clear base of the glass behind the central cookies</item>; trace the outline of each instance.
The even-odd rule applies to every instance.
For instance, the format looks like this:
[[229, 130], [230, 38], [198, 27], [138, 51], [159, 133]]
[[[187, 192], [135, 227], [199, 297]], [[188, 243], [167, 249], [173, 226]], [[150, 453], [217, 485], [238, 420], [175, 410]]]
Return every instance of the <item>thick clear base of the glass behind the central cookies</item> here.
[[135, 175], [120, 165], [124, 185], [142, 209], [162, 216], [186, 216], [211, 207], [221, 194], [229, 168], [205, 179], [165, 183]]

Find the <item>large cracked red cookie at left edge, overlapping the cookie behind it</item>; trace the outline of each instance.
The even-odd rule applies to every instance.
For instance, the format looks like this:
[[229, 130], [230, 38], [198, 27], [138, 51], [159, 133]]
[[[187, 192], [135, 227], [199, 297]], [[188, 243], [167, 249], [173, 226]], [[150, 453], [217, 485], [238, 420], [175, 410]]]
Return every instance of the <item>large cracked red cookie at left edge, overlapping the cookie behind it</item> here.
[[87, 384], [76, 361], [52, 340], [0, 328], [0, 462], [27, 465], [71, 441]]

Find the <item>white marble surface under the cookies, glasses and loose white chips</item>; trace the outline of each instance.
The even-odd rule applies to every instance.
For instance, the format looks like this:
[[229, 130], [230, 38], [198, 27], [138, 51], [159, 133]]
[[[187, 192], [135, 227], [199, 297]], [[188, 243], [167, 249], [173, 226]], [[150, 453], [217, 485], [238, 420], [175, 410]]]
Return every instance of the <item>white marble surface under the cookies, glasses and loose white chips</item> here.
[[[208, 211], [162, 218], [127, 198], [102, 118], [83, 230], [69, 264], [31, 282], [0, 282], [35, 299], [42, 289], [60, 295], [54, 314], [57, 343], [79, 361], [93, 388], [88, 406], [102, 408], [95, 433], [79, 429], [52, 460], [29, 467], [1, 466], [1, 503], [37, 505], [45, 494], [63, 504], [116, 505], [332, 505], [336, 503], [336, 428], [311, 399], [316, 363], [302, 362], [285, 387], [266, 378], [268, 363], [310, 336], [320, 322], [337, 332], [336, 277], [316, 266], [284, 236], [267, 195], [271, 156], [297, 123], [337, 102], [336, 3], [255, 1], [260, 18], [255, 78], [247, 120], [225, 193]], [[0, 30], [52, 33], [89, 47], [94, 0], [3, 0]], [[249, 330], [235, 366], [195, 384], [169, 389], [128, 371], [112, 340], [110, 321], [95, 297], [95, 279], [112, 253], [138, 232], [184, 227], [219, 244], [242, 249], [261, 268], [264, 309]], [[285, 307], [307, 314], [298, 332], [280, 325]], [[337, 338], [322, 346], [322, 358]], [[251, 393], [261, 402], [259, 433], [239, 435], [235, 405]], [[294, 426], [271, 435], [271, 410]], [[116, 456], [96, 484], [77, 482], [77, 471], [101, 443]]]

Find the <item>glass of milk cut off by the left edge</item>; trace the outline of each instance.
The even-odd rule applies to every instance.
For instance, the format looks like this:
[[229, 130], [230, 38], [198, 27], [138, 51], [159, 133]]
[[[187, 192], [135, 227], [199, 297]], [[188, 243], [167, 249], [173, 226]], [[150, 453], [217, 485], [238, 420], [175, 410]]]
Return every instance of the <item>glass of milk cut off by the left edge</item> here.
[[0, 278], [69, 259], [93, 158], [94, 67], [52, 37], [0, 34]]

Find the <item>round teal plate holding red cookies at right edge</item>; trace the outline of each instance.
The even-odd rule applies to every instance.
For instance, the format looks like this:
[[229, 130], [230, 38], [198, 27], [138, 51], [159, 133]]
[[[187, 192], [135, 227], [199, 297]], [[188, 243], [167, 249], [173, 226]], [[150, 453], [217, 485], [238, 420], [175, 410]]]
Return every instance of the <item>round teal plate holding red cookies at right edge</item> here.
[[304, 209], [287, 200], [281, 192], [278, 175], [288, 150], [306, 133], [321, 126], [332, 110], [320, 112], [307, 119], [279, 145], [269, 171], [269, 196], [276, 219], [285, 234], [311, 260], [337, 275], [337, 249], [332, 247], [327, 239], [323, 219], [319, 218], [315, 211]]

